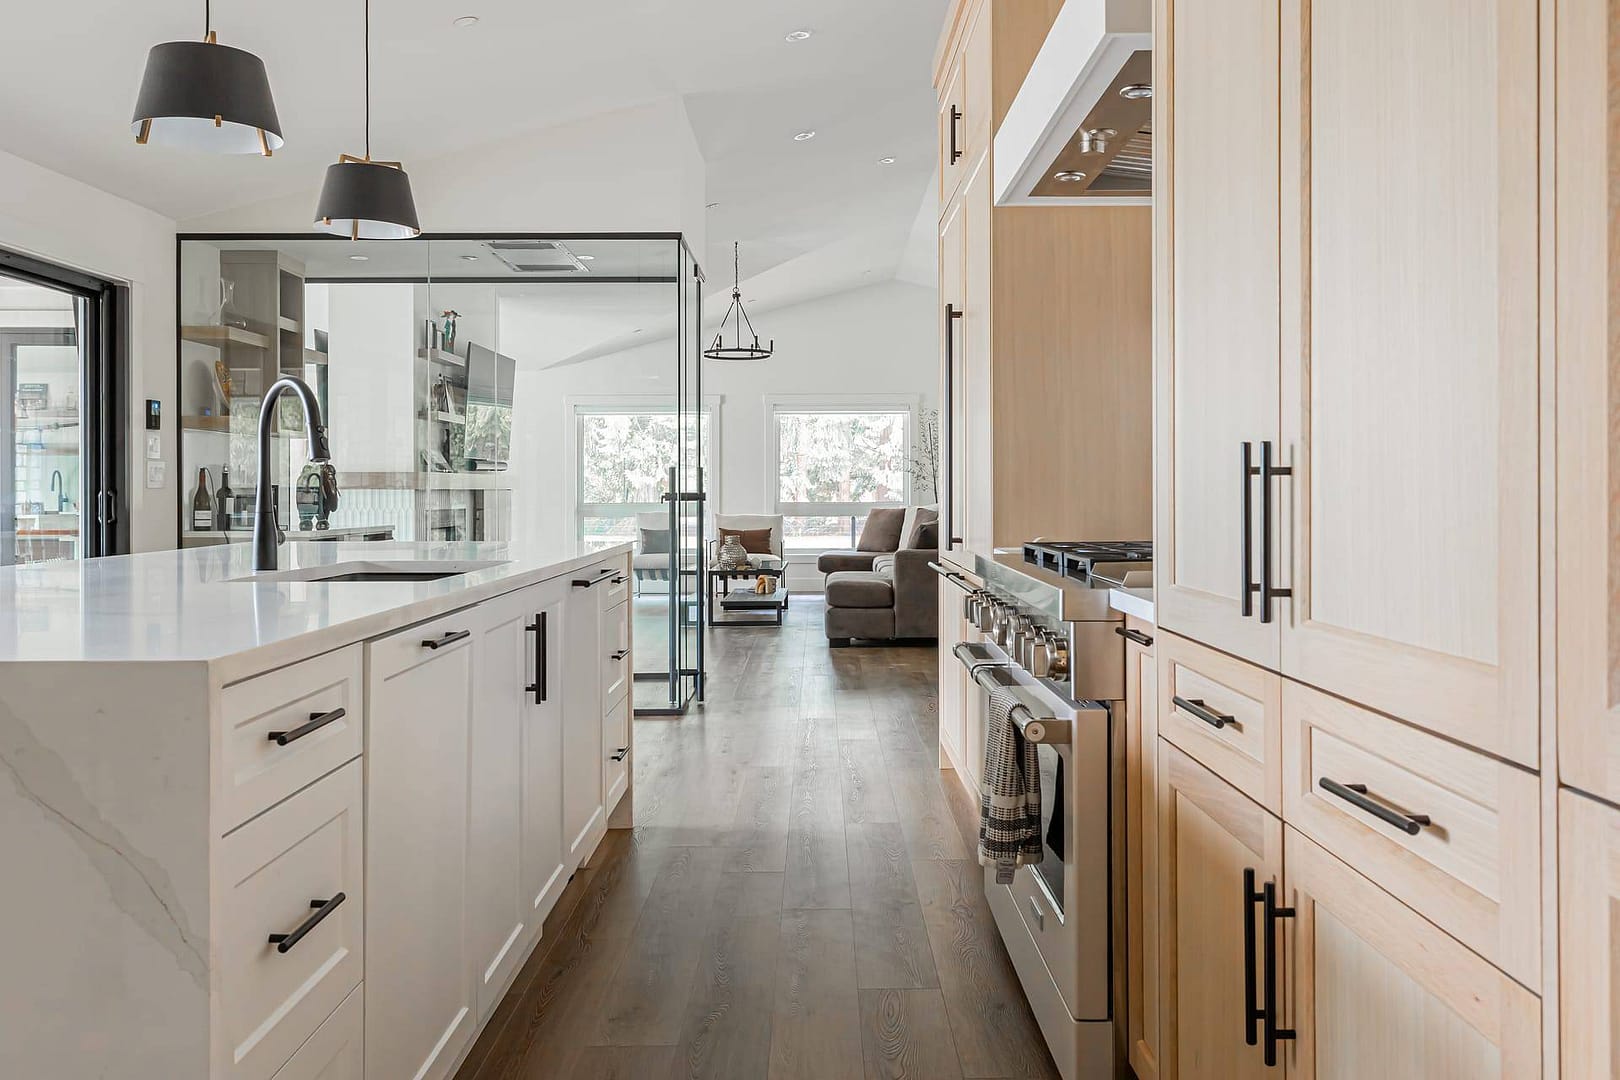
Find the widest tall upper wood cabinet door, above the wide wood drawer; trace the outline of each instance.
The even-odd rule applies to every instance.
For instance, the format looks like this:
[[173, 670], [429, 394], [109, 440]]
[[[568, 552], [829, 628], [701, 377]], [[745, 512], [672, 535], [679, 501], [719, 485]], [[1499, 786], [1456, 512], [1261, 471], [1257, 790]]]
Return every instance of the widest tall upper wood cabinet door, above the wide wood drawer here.
[[1285, 0], [1273, 491], [1281, 672], [1533, 767], [1536, 19]]

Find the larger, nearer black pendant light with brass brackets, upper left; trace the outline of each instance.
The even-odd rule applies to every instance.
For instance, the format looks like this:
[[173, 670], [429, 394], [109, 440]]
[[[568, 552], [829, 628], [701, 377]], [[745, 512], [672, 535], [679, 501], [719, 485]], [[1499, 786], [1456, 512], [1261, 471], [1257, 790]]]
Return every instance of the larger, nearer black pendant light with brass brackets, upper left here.
[[282, 147], [282, 121], [264, 62], [214, 39], [207, 0], [202, 40], [167, 40], [146, 53], [130, 130], [143, 146], [264, 157]]

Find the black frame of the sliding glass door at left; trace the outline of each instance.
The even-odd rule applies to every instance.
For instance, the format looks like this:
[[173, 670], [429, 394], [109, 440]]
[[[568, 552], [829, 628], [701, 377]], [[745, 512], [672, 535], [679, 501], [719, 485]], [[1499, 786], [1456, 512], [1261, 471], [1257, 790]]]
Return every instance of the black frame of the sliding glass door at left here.
[[[0, 248], [0, 275], [68, 293], [78, 300], [79, 415], [83, 447], [79, 508], [92, 513], [81, 557], [130, 551], [128, 371], [130, 288], [118, 282]], [[8, 395], [16, 387], [5, 387]], [[10, 402], [6, 408], [15, 408]], [[131, 481], [133, 483], [133, 481]]]

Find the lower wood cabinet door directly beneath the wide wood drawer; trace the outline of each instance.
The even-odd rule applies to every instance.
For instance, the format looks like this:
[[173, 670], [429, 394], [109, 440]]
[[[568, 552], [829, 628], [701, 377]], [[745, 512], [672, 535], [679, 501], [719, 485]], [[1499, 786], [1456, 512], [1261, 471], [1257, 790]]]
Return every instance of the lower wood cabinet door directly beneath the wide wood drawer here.
[[1280, 968], [1290, 1077], [1541, 1074], [1533, 993], [1291, 827], [1285, 861], [1288, 907], [1262, 934], [1291, 957]]

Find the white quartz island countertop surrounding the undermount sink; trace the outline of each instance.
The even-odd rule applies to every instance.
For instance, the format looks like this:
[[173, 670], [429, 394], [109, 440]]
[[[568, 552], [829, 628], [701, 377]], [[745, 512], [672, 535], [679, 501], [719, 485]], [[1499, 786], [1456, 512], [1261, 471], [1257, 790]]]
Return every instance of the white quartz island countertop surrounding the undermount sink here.
[[282, 544], [280, 570], [339, 562], [486, 562], [437, 581], [237, 581], [251, 544], [0, 568], [0, 662], [220, 664], [266, 670], [622, 557], [632, 544]]

